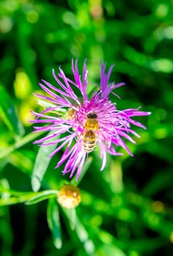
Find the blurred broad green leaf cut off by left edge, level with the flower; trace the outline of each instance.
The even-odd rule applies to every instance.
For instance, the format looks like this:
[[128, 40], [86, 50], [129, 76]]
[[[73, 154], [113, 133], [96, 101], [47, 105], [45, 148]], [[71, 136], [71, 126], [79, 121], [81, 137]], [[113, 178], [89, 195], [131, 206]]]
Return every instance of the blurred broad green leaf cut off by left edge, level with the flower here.
[[22, 136], [24, 134], [23, 125], [18, 118], [15, 106], [12, 104], [12, 99], [3, 86], [0, 86], [0, 113], [9, 130], [15, 135]]

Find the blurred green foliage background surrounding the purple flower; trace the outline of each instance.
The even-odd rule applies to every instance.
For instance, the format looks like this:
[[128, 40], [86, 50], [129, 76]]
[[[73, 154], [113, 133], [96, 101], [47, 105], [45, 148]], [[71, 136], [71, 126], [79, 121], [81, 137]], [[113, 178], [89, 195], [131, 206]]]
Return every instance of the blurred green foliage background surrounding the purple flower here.
[[[172, 0], [0, 0], [0, 255], [172, 255], [172, 46]], [[128, 145], [133, 158], [108, 156], [100, 172], [93, 152], [78, 185], [75, 218], [52, 199], [48, 208], [47, 200], [18, 203], [32, 191], [39, 149], [28, 123], [29, 111], [38, 110], [33, 92], [42, 93], [42, 78], [55, 84], [52, 69], [58, 72], [59, 65], [72, 78], [72, 58], [80, 70], [88, 59], [89, 80], [96, 83], [99, 59], [115, 64], [111, 80], [126, 83], [116, 91], [121, 100], [113, 99], [117, 108], [152, 111], [138, 118], [147, 130], [135, 129], [141, 138]], [[69, 182], [54, 169], [59, 157], [40, 191]], [[9, 202], [9, 195], [18, 199]], [[49, 229], [47, 217], [58, 214], [57, 206], [59, 225], [51, 229], [49, 222]]]

